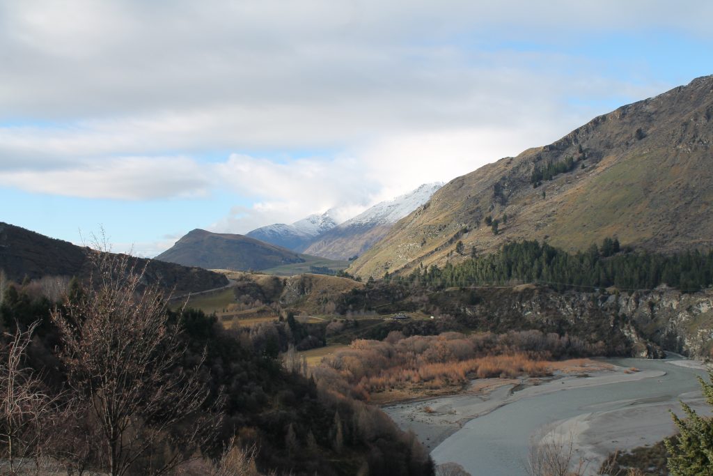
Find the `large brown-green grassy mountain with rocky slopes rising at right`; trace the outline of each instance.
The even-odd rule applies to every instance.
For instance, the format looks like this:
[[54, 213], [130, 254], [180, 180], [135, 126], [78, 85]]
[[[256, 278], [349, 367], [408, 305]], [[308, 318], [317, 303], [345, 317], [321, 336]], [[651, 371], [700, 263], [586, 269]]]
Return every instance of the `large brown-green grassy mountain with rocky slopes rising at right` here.
[[454, 179], [349, 272], [462, 260], [458, 241], [463, 255], [522, 239], [583, 250], [609, 236], [664, 253], [710, 248], [712, 143], [713, 76], [705, 76]]

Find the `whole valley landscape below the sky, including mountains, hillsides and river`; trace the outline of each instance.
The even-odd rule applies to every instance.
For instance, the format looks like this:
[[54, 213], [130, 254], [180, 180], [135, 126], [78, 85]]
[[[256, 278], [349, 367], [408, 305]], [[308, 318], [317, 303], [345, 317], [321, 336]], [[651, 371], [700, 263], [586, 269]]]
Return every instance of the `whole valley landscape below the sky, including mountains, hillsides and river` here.
[[[528, 462], [544, 449], [585, 476], [643, 445], [672, 457], [660, 442], [689, 420], [669, 411], [713, 403], [711, 111], [704, 76], [341, 223], [195, 228], [153, 259], [0, 223], [0, 385], [44, 405], [26, 433], [0, 410], [0, 472], [48, 455], [68, 473], [553, 476]], [[116, 395], [133, 400], [110, 425]]]

